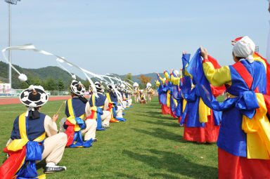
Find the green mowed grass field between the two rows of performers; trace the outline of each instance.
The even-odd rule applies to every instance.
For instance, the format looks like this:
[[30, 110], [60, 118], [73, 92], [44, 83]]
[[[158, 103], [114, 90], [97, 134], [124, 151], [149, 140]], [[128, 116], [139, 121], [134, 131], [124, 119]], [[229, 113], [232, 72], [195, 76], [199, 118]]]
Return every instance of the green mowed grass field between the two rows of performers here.
[[[41, 112], [53, 116], [63, 101], [51, 101]], [[26, 107], [0, 105], [0, 149], [11, 135], [13, 121]], [[65, 107], [59, 121], [65, 116]], [[161, 114], [158, 97], [125, 110], [125, 122], [96, 131], [98, 142], [89, 148], [66, 148], [60, 166], [67, 171], [47, 178], [218, 178], [217, 145], [183, 140], [184, 128]], [[1, 164], [6, 154], [0, 152]], [[37, 164], [43, 174], [45, 162]]]

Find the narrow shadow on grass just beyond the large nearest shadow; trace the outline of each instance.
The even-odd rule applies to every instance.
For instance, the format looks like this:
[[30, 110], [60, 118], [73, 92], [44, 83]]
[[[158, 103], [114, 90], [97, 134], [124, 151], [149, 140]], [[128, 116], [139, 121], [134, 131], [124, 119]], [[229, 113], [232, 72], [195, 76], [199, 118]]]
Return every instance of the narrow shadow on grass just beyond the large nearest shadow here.
[[179, 135], [176, 133], [172, 133], [170, 131], [165, 130], [164, 128], [151, 128], [153, 131], [147, 131], [139, 128], [131, 128], [134, 131], [137, 131], [139, 133], [144, 133], [147, 135], [150, 135], [155, 138], [161, 138], [165, 140], [174, 140], [176, 142], [182, 142], [182, 143], [187, 143], [188, 141], [183, 139], [183, 135]]

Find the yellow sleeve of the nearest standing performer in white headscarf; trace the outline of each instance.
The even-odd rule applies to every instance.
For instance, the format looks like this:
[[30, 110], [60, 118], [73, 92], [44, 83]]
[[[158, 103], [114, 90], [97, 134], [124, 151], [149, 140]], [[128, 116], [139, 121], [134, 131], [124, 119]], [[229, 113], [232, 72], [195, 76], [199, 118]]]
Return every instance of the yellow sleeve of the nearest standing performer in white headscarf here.
[[231, 71], [229, 66], [214, 69], [211, 62], [203, 62], [203, 71], [205, 72], [205, 77], [213, 86], [231, 85]]

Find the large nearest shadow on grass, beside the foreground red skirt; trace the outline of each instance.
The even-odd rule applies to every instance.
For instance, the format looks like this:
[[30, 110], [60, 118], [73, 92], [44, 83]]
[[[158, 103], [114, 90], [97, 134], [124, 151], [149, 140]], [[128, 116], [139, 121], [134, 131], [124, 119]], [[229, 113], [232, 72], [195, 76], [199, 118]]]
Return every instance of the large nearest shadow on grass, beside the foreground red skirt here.
[[[166, 152], [162, 150], [146, 150], [152, 154], [158, 154], [158, 157], [149, 154], [137, 154], [129, 150], [124, 150], [122, 154], [127, 154], [130, 158], [141, 161], [148, 166], [156, 169], [166, 170], [170, 173], [186, 175], [191, 178], [217, 178], [218, 169], [212, 166], [203, 166], [195, 164], [184, 157], [182, 154]], [[141, 152], [142, 153], [142, 152]], [[162, 173], [148, 173], [150, 176], [163, 176], [171, 178], [172, 175]]]

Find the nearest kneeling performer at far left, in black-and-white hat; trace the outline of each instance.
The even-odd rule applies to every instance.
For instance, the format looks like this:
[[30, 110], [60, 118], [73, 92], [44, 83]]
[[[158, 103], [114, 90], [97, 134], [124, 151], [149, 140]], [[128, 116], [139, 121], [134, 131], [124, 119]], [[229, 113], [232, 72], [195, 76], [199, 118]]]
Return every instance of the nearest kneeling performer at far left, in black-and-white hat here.
[[0, 167], [0, 178], [37, 178], [36, 162], [45, 158], [44, 173], [66, 169], [65, 166], [57, 166], [68, 141], [65, 133], [57, 133], [58, 114], [51, 119], [40, 112], [41, 106], [48, 99], [42, 86], [31, 85], [20, 93], [20, 101], [27, 107], [27, 111], [14, 121], [11, 138], [4, 149], [9, 157]]

